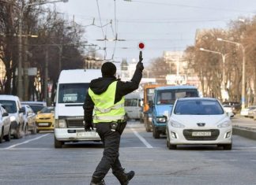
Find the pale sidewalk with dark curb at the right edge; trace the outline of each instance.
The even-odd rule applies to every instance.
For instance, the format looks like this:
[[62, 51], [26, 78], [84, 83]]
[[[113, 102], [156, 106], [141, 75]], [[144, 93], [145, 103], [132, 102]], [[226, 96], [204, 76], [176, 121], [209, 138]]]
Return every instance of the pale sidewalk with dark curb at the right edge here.
[[235, 115], [232, 118], [233, 134], [256, 140], [256, 120]]

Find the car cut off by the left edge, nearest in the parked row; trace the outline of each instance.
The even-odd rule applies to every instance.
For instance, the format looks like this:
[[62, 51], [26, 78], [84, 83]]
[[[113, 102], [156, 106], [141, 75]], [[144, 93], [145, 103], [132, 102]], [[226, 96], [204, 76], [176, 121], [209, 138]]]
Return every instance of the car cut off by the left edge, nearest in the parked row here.
[[9, 119], [9, 113], [0, 105], [0, 143], [2, 143], [3, 139], [6, 142], [9, 142], [11, 139], [11, 121]]

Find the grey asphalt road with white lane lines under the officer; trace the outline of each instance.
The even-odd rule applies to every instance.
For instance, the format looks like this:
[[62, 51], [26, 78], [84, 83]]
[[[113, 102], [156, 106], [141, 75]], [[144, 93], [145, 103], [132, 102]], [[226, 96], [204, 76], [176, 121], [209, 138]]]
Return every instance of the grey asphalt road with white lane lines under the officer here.
[[[55, 149], [54, 134], [26, 135], [0, 144], [0, 184], [88, 185], [102, 156], [100, 142]], [[168, 150], [166, 137], [153, 139], [143, 124], [130, 121], [122, 135], [120, 159], [136, 172], [130, 185], [256, 184], [256, 140], [233, 135], [233, 149], [182, 146]], [[111, 171], [107, 185], [119, 184]]]

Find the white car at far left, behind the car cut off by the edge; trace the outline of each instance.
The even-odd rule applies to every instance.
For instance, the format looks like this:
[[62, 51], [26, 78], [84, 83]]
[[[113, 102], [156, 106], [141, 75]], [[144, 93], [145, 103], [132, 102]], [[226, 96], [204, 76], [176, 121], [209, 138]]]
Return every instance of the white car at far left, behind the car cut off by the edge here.
[[19, 139], [24, 132], [23, 112], [21, 102], [17, 96], [0, 95], [0, 103], [4, 105], [11, 120], [11, 135]]

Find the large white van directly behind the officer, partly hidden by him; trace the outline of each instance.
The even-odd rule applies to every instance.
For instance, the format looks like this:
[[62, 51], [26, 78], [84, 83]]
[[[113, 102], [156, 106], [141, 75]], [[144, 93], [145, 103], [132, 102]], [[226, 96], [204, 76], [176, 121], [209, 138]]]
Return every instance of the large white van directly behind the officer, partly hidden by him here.
[[100, 141], [94, 131], [85, 132], [85, 96], [91, 80], [101, 77], [100, 69], [62, 70], [55, 96], [55, 148], [65, 142]]

